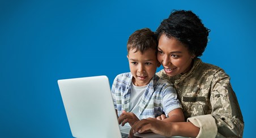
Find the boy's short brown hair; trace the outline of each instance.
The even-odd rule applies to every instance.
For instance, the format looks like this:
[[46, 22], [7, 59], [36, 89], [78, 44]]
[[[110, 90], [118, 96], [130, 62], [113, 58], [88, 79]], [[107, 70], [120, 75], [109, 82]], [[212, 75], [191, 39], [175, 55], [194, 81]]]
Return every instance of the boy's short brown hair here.
[[139, 50], [143, 53], [148, 49], [153, 49], [157, 53], [157, 45], [158, 42], [155, 33], [149, 28], [143, 28], [136, 30], [130, 35], [127, 42], [127, 52], [129, 53], [129, 50], [136, 49], [136, 51]]

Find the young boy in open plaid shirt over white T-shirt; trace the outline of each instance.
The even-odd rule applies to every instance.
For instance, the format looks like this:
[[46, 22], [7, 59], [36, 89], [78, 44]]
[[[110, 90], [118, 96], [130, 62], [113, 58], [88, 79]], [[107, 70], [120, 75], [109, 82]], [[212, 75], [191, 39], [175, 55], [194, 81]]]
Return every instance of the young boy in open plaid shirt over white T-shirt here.
[[130, 126], [144, 118], [156, 118], [165, 113], [168, 122], [183, 122], [182, 106], [170, 81], [155, 75], [157, 38], [150, 29], [135, 31], [127, 42], [130, 72], [117, 75], [112, 85], [112, 97], [119, 124]]

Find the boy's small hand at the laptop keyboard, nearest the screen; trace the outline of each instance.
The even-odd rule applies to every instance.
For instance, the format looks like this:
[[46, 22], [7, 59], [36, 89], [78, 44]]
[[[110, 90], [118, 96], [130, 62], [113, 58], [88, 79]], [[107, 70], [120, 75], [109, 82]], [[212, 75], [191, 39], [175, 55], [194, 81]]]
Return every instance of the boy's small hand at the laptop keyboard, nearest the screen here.
[[136, 117], [136, 115], [134, 113], [129, 113], [129, 112], [126, 112], [125, 110], [122, 110], [122, 114], [118, 118], [118, 123], [119, 124], [122, 123], [122, 126], [124, 126], [125, 123], [129, 123], [130, 126], [132, 127], [133, 124], [135, 122], [137, 122], [138, 120], [139, 120], [139, 118]]

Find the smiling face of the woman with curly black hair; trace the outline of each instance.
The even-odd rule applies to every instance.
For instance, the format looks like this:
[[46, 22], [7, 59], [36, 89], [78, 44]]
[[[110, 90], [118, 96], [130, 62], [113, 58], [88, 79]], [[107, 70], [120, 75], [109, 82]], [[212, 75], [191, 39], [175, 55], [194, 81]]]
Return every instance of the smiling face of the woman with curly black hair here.
[[190, 70], [194, 55], [176, 38], [164, 34], [159, 38], [157, 59], [168, 76], [176, 76]]

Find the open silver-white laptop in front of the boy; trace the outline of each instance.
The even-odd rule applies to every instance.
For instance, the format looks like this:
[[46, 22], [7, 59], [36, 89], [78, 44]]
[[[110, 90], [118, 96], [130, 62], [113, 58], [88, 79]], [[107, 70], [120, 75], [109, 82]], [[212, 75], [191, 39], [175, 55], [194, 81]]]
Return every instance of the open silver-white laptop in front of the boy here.
[[[58, 80], [72, 136], [116, 137], [129, 134], [130, 127], [120, 127], [107, 76]], [[136, 137], [164, 137], [155, 133]]]

